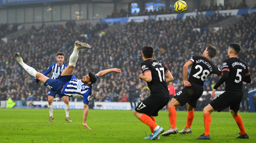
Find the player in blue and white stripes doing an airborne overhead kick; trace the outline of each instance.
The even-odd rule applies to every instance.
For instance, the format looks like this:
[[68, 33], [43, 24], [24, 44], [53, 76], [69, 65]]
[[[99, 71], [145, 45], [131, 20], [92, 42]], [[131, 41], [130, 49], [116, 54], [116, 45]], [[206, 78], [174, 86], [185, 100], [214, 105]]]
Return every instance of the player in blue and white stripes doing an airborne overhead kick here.
[[88, 129], [92, 130], [86, 124], [86, 119], [88, 116], [88, 104], [89, 104], [90, 96], [92, 94], [92, 84], [97, 81], [98, 77], [104, 76], [110, 72], [116, 72], [117, 74], [120, 74], [121, 70], [117, 68], [107, 69], [107, 70], [98, 72], [96, 75], [94, 75], [92, 72], [89, 72], [89, 74], [87, 74], [80, 80], [72, 79], [77, 58], [78, 58], [78, 52], [80, 49], [84, 49], [84, 48], [90, 49], [91, 46], [87, 43], [82, 43], [80, 41], [75, 42], [74, 50], [69, 57], [68, 66], [63, 70], [63, 72], [61, 72], [61, 74], [57, 79], [48, 78], [42, 73], [37, 72], [34, 68], [25, 64], [22, 58], [20, 57], [19, 53], [14, 53], [14, 56], [16, 60], [19, 62], [19, 64], [30, 75], [39, 79], [42, 83], [44, 83], [44, 86], [51, 89], [52, 92], [59, 94], [61, 96], [83, 97], [84, 99], [83, 125]]

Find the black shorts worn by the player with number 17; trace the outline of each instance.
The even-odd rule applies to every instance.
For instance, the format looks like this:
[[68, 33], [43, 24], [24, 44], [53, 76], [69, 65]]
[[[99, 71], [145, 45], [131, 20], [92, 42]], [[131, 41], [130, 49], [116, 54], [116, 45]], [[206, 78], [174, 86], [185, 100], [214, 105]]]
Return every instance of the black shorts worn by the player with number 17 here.
[[169, 97], [167, 98], [154, 98], [152, 96], [149, 96], [148, 98], [144, 99], [142, 102], [140, 102], [136, 108], [135, 111], [139, 113], [144, 113], [146, 115], [150, 116], [158, 116], [158, 111], [160, 109], [163, 109], [164, 106], [169, 102]]

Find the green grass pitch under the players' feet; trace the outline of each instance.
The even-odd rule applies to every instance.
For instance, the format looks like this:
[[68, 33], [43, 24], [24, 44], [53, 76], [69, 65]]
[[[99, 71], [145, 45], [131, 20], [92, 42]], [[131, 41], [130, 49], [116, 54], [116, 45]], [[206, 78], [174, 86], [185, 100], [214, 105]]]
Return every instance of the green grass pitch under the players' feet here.
[[[168, 112], [159, 111], [156, 123], [165, 131], [170, 126]], [[0, 109], [0, 142], [1, 143], [255, 143], [256, 113], [239, 113], [243, 118], [245, 131], [249, 139], [235, 139], [239, 128], [229, 112], [213, 112], [210, 136], [211, 140], [197, 140], [204, 133], [203, 112], [195, 111], [191, 134], [174, 134], [160, 136], [161, 139], [144, 139], [151, 132], [134, 115], [133, 111], [124, 110], [89, 110], [85, 128], [83, 110], [69, 111], [72, 123], [65, 121], [64, 109], [54, 109], [54, 120], [48, 123], [48, 109]], [[186, 125], [187, 112], [177, 111], [177, 128]]]

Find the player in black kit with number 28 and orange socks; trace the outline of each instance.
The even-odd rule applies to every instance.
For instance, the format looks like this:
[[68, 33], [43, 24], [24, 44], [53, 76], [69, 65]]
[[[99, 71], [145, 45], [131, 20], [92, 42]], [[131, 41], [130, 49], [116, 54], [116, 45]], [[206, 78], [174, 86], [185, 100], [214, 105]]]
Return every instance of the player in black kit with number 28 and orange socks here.
[[[178, 133], [176, 127], [177, 112], [176, 107], [187, 105], [187, 124], [179, 132], [182, 134], [191, 133], [191, 124], [194, 119], [194, 108], [196, 108], [197, 100], [204, 92], [204, 81], [212, 73], [222, 76], [220, 69], [212, 64], [211, 59], [217, 54], [217, 49], [209, 44], [204, 50], [203, 56], [192, 56], [183, 66], [183, 83], [184, 88], [173, 96], [171, 102], [168, 104], [169, 121], [171, 127], [164, 132], [162, 136]], [[188, 67], [192, 65], [189, 78]]]

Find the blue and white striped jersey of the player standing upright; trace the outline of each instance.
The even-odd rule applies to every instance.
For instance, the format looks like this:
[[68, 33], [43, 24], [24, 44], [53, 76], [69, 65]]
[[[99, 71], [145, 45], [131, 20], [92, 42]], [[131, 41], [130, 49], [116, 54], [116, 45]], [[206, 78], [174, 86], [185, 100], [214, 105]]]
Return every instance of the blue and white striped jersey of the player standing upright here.
[[58, 62], [51, 64], [48, 69], [43, 73], [43, 75], [47, 76], [50, 72], [52, 79], [57, 79], [60, 73], [67, 67], [68, 65], [63, 63], [62, 65], [58, 65]]

